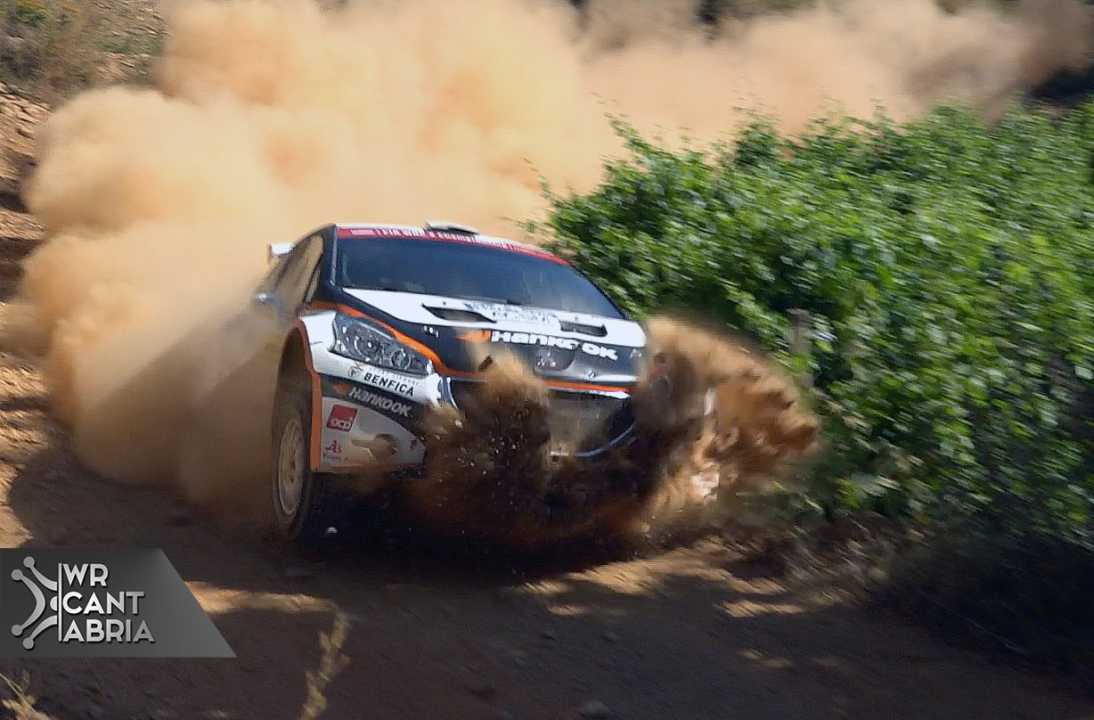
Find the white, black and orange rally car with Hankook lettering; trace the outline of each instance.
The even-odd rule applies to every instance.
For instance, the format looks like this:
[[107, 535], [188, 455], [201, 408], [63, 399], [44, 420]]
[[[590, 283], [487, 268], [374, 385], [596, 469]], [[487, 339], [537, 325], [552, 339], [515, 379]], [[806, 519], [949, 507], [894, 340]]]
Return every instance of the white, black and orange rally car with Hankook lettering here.
[[280, 533], [328, 529], [331, 476], [424, 462], [422, 420], [458, 408], [491, 353], [549, 388], [549, 452], [628, 442], [645, 334], [565, 259], [454, 223], [329, 224], [291, 244], [255, 295], [277, 318], [272, 501]]

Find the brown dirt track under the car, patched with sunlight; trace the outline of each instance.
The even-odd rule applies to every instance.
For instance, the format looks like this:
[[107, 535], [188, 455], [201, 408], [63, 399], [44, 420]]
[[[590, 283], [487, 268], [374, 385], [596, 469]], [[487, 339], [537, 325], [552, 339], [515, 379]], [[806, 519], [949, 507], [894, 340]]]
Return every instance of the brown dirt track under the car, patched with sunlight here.
[[[37, 229], [4, 210], [0, 231], [8, 301]], [[1049, 678], [788, 592], [722, 541], [532, 564], [396, 527], [319, 564], [81, 467], [9, 353], [0, 417], [0, 544], [162, 547], [237, 654], [0, 662], [56, 718], [299, 717], [339, 616], [349, 664], [325, 718], [1094, 718]]]

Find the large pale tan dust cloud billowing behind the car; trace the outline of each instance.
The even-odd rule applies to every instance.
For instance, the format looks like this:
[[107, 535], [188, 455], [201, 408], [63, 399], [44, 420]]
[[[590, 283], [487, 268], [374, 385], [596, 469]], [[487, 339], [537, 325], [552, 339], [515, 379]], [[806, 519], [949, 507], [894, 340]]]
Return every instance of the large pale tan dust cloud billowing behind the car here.
[[607, 113], [708, 141], [741, 107], [789, 130], [833, 104], [993, 112], [1092, 37], [1074, 0], [953, 14], [848, 0], [713, 31], [694, 14], [683, 0], [171, 5], [155, 85], [63, 106], [25, 194], [48, 240], [25, 266], [21, 341], [45, 353], [82, 458], [199, 501], [253, 495], [270, 361], [245, 309], [269, 242], [432, 217], [513, 235], [544, 210], [540, 178], [595, 186], [620, 150]]

